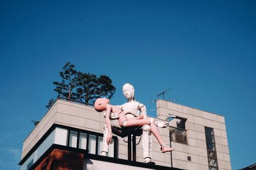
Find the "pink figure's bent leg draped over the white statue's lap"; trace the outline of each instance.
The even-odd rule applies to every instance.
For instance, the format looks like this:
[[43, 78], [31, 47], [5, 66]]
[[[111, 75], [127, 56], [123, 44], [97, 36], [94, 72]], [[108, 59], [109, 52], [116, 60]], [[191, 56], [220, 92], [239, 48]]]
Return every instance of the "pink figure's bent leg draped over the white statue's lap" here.
[[140, 125], [150, 125], [151, 132], [156, 137], [157, 141], [161, 145], [161, 152], [170, 152], [173, 151], [173, 148], [168, 148], [166, 145], [164, 145], [164, 140], [160, 136], [160, 133], [156, 127], [156, 124], [154, 122], [154, 119], [151, 118], [144, 118], [144, 119], [136, 119], [136, 120], [126, 120], [125, 121], [125, 127], [131, 127], [131, 126], [140, 126]]

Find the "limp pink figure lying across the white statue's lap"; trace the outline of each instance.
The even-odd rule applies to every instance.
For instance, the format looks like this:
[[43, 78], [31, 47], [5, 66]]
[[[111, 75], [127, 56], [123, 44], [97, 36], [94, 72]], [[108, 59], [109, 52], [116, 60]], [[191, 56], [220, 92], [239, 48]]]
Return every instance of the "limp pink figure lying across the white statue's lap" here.
[[111, 113], [117, 113], [118, 114], [118, 122], [120, 127], [134, 127], [134, 126], [142, 126], [142, 125], [150, 125], [151, 131], [156, 137], [157, 141], [161, 145], [161, 152], [171, 152], [174, 149], [167, 147], [164, 144], [163, 138], [161, 138], [160, 133], [156, 127], [156, 124], [154, 122], [154, 118], [143, 118], [143, 116], [139, 118], [127, 118], [123, 111], [118, 108], [117, 106], [113, 106], [109, 104], [109, 99], [106, 98], [99, 98], [95, 101], [94, 103], [94, 108], [97, 111], [104, 111], [106, 110], [106, 125], [109, 129], [108, 132], [108, 137], [107, 137], [107, 143], [111, 143], [112, 141], [112, 131], [111, 131], [111, 120], [110, 120], [110, 115]]

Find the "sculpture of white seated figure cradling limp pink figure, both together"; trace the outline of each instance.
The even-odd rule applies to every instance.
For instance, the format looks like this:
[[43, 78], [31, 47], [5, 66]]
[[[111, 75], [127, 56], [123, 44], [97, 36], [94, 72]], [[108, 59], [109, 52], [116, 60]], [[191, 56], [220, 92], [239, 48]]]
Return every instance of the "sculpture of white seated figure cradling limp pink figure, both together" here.
[[151, 132], [156, 137], [157, 141], [161, 145], [161, 152], [171, 152], [173, 148], [170, 148], [164, 144], [164, 140], [159, 134], [154, 118], [147, 117], [147, 111], [143, 104], [135, 101], [134, 88], [131, 84], [126, 83], [123, 86], [123, 93], [127, 99], [127, 103], [121, 106], [113, 106], [109, 103], [109, 99], [99, 98], [95, 101], [94, 108], [97, 111], [106, 111], [105, 120], [106, 126], [104, 128], [104, 146], [102, 148], [101, 155], [108, 153], [108, 145], [113, 138], [111, 120], [113, 118], [118, 120], [120, 127], [141, 127], [143, 128], [142, 140], [143, 140], [143, 157], [145, 162], [151, 162], [151, 148], [152, 139]]

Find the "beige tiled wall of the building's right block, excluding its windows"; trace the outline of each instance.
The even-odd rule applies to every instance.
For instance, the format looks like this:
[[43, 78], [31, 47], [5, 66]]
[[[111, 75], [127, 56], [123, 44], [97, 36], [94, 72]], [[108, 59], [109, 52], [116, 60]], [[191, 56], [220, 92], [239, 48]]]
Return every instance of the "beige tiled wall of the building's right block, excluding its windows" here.
[[[207, 126], [214, 129], [219, 169], [231, 169], [227, 132], [223, 116], [168, 101], [157, 101], [157, 118], [164, 119], [168, 117], [168, 113], [187, 118], [188, 145], [172, 142], [172, 147], [175, 148], [173, 152], [173, 167], [180, 169], [209, 169], [204, 130], [204, 127]], [[188, 161], [188, 156], [191, 157], [191, 161]]]

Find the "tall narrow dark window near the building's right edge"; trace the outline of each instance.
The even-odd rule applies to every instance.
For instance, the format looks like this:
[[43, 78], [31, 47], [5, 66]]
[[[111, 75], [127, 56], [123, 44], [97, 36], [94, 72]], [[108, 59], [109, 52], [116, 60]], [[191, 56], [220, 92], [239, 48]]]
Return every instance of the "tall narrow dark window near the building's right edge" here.
[[214, 131], [211, 127], [205, 127], [205, 140], [207, 147], [209, 169], [218, 170]]

